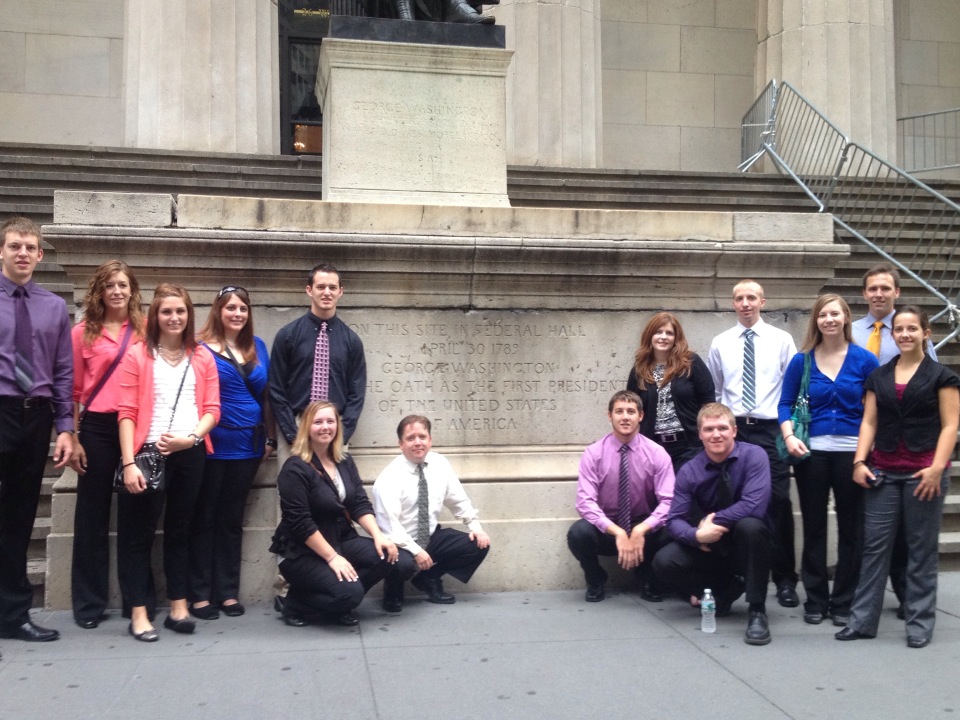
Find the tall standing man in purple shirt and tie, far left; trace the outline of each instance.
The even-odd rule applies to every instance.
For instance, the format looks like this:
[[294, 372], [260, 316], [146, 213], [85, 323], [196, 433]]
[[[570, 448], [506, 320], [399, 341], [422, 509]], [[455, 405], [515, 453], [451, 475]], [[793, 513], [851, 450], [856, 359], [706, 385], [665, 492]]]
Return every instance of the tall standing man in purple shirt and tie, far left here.
[[33, 282], [43, 257], [37, 224], [11, 218], [0, 242], [0, 638], [45, 642], [60, 634], [30, 621], [27, 546], [54, 423], [56, 467], [73, 451], [70, 318], [61, 298]]

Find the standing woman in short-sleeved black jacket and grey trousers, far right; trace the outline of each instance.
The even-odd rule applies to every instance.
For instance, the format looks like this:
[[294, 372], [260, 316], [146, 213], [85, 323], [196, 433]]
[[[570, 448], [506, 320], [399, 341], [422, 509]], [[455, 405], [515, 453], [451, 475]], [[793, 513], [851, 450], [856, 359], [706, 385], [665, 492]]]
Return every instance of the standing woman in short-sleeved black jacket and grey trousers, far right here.
[[864, 547], [850, 622], [837, 640], [877, 634], [890, 555], [900, 519], [907, 541], [907, 645], [933, 637], [937, 602], [937, 544], [950, 458], [960, 420], [960, 379], [925, 354], [926, 314], [912, 305], [893, 316], [900, 356], [864, 384], [863, 423], [853, 480], [864, 496]]

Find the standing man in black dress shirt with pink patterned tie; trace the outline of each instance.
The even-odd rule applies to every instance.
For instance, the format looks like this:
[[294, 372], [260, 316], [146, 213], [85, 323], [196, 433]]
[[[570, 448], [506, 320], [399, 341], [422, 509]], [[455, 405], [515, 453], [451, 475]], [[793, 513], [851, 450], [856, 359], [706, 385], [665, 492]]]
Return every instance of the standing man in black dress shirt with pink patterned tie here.
[[[340, 271], [321, 263], [310, 271], [307, 295], [310, 312], [277, 333], [270, 352], [270, 404], [287, 444], [297, 435], [297, 418], [312, 400], [329, 400], [337, 406], [346, 444], [357, 429], [367, 391], [367, 363], [363, 342], [337, 317], [343, 297]], [[323, 324], [330, 341], [329, 391], [311, 398], [317, 335]]]

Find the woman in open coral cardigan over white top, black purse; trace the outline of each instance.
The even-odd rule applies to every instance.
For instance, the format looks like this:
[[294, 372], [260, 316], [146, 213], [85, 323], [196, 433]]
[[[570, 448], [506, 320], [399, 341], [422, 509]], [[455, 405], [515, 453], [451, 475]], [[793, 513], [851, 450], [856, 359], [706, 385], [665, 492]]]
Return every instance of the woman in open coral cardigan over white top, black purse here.
[[[220, 419], [220, 383], [210, 351], [194, 338], [193, 303], [179, 285], [161, 283], [147, 315], [145, 341], [120, 365], [120, 453], [125, 493], [117, 503], [117, 570], [130, 634], [159, 639], [147, 613], [150, 553], [157, 522], [163, 524], [163, 569], [170, 613], [164, 627], [192, 633], [189, 619], [189, 529], [203, 464], [213, 452], [208, 437]], [[154, 443], [166, 458], [166, 489], [144, 493], [146, 482], [134, 456]]]

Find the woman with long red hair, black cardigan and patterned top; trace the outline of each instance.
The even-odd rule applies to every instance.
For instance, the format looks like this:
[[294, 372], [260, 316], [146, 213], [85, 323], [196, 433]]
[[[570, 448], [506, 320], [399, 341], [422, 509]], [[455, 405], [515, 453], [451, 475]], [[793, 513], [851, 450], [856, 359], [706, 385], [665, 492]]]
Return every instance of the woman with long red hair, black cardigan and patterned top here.
[[644, 328], [627, 390], [643, 401], [640, 432], [670, 453], [674, 472], [703, 450], [697, 413], [716, 402], [713, 378], [671, 313], [657, 313]]

